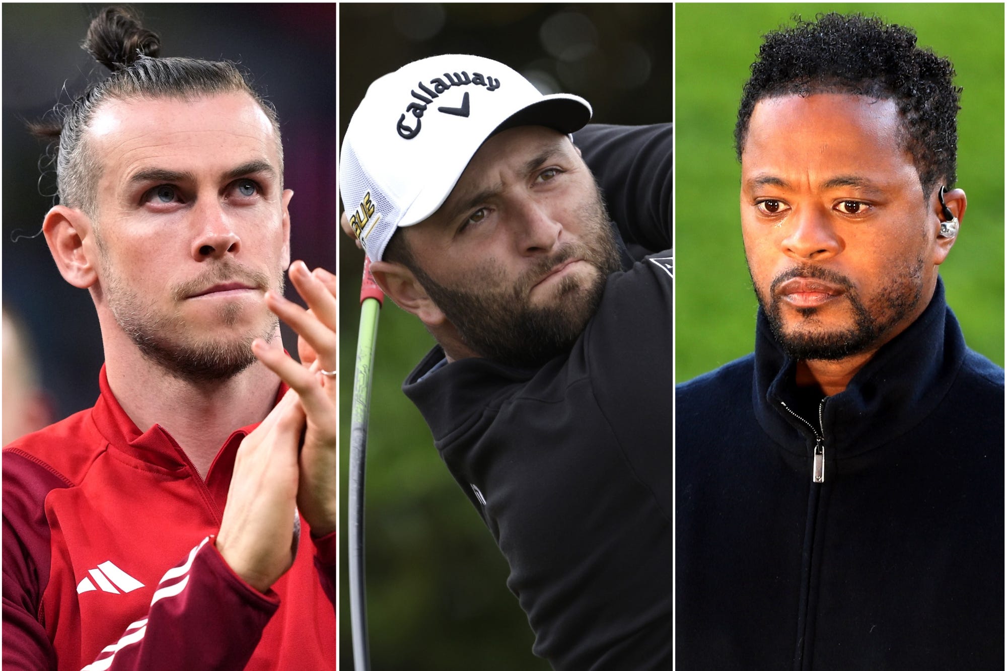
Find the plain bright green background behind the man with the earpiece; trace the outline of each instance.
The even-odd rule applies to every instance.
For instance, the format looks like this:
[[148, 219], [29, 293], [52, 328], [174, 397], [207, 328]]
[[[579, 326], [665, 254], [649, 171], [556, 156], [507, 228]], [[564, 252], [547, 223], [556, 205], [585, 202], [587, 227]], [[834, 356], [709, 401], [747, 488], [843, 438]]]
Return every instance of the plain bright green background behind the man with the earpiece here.
[[958, 186], [962, 232], [941, 267], [966, 342], [1004, 363], [1004, 6], [679, 4], [675, 15], [676, 379], [752, 351], [757, 303], [745, 269], [733, 130], [761, 35], [800, 14], [859, 11], [915, 29], [964, 88]]

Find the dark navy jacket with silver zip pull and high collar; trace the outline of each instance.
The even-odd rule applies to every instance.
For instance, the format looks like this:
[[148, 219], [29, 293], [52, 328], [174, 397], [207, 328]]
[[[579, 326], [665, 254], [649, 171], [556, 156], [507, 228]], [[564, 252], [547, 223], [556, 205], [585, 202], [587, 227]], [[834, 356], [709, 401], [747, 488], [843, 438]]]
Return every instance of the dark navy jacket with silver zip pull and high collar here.
[[760, 311], [677, 389], [678, 668], [1003, 669], [1004, 372], [941, 281], [842, 393], [794, 379]]

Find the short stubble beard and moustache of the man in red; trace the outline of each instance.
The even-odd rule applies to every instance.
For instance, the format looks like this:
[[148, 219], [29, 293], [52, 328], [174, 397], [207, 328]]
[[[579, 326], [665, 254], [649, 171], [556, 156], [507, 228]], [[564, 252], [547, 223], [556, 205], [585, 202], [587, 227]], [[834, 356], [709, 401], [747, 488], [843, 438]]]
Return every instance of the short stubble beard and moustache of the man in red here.
[[[244, 332], [236, 331], [230, 338], [200, 338], [177, 309], [164, 312], [156, 307], [154, 300], [145, 299], [128, 287], [113, 269], [107, 249], [101, 242], [98, 247], [103, 291], [116, 322], [145, 359], [171, 377], [194, 384], [225, 382], [257, 361], [252, 341], [261, 338], [270, 343], [276, 337], [279, 319], [267, 310], [259, 324]], [[170, 296], [177, 304], [208, 285], [236, 280], [263, 291], [273, 288], [283, 293], [282, 271], [270, 278], [266, 273], [225, 260], [214, 262], [199, 277], [171, 287]], [[238, 301], [221, 301], [214, 317], [228, 328], [234, 328], [245, 309]]]

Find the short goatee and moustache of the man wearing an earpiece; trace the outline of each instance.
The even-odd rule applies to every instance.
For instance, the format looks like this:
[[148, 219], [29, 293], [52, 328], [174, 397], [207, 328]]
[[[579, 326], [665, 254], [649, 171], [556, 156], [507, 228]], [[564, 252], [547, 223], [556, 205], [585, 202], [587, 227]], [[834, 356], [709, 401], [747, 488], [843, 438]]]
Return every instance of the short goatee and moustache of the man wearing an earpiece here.
[[[759, 305], [765, 312], [773, 338], [783, 352], [796, 360], [839, 361], [860, 354], [875, 347], [895, 324], [915, 310], [922, 296], [923, 259], [918, 257], [915, 264], [906, 266], [891, 278], [886, 290], [879, 295], [871, 307], [863, 302], [853, 283], [837, 272], [817, 265], [796, 266], [773, 278], [769, 285], [771, 300], [766, 303], [752, 278], [752, 287]], [[751, 269], [749, 269], [751, 276]], [[826, 332], [787, 333], [780, 315], [782, 298], [776, 295], [776, 288], [788, 279], [810, 277], [826, 280], [843, 287], [843, 296], [853, 312], [853, 325], [845, 330]], [[812, 319], [818, 313], [817, 307], [799, 309], [805, 319]]]

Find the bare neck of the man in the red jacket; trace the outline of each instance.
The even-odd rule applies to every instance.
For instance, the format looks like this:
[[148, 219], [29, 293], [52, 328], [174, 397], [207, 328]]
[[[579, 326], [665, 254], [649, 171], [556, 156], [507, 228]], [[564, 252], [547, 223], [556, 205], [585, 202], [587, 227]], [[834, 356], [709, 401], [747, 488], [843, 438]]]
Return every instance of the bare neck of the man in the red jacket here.
[[[141, 431], [160, 424], [202, 478], [228, 436], [262, 421], [275, 404], [280, 380], [258, 361], [228, 380], [191, 382], [150, 362], [132, 343], [114, 343], [125, 338], [105, 340], [105, 372], [116, 400]], [[283, 347], [279, 334], [271, 347]]]

